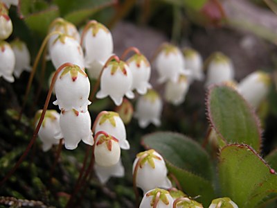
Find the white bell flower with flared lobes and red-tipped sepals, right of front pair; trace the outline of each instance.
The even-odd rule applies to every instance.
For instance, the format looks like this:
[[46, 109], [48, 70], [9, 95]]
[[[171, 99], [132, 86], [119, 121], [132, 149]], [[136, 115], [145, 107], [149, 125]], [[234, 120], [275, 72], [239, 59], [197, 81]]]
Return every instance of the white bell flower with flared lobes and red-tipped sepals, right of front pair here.
[[123, 61], [111, 60], [102, 71], [100, 78], [100, 91], [96, 98], [110, 96], [116, 105], [120, 105], [123, 96], [134, 98], [132, 88], [132, 72], [128, 65]]

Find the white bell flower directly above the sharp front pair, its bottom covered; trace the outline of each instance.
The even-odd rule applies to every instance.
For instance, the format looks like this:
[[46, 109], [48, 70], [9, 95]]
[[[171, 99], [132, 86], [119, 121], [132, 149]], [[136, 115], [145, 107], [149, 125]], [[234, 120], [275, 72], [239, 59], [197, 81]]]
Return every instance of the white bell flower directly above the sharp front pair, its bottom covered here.
[[79, 42], [69, 35], [58, 35], [49, 50], [55, 69], [69, 62], [84, 70], [84, 54]]

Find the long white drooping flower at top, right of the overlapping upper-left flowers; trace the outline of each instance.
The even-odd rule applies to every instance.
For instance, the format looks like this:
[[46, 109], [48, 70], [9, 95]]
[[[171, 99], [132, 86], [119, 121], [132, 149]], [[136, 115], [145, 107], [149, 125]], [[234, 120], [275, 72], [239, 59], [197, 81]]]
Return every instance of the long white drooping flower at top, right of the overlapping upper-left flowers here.
[[89, 21], [84, 31], [83, 45], [89, 77], [97, 79], [105, 62], [114, 51], [111, 32], [103, 24], [95, 20]]

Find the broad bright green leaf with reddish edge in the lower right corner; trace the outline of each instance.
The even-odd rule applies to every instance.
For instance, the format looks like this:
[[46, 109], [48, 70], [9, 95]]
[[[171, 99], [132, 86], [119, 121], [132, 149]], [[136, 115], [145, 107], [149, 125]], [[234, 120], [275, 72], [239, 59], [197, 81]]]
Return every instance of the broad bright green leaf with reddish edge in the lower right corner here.
[[222, 196], [238, 207], [256, 207], [277, 197], [277, 175], [248, 145], [229, 145], [220, 153]]

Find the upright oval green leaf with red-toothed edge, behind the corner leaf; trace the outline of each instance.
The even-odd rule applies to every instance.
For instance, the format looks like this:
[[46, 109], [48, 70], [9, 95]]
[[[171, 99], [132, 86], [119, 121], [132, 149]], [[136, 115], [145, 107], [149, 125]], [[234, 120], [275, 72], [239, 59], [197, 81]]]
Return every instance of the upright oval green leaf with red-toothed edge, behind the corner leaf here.
[[258, 117], [235, 89], [226, 85], [212, 87], [206, 105], [211, 126], [225, 144], [249, 144], [260, 150]]

